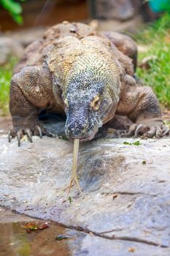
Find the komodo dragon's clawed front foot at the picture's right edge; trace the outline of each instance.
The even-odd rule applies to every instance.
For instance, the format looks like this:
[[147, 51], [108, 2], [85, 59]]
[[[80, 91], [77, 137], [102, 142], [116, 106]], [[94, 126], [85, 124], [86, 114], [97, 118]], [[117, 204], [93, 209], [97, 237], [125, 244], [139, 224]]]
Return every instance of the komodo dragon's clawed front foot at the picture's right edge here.
[[132, 124], [129, 127], [128, 135], [134, 135], [137, 138], [142, 135], [142, 138], [162, 138], [169, 134], [169, 128], [163, 124], [163, 121], [156, 121], [154, 119], [146, 119], [139, 124]]

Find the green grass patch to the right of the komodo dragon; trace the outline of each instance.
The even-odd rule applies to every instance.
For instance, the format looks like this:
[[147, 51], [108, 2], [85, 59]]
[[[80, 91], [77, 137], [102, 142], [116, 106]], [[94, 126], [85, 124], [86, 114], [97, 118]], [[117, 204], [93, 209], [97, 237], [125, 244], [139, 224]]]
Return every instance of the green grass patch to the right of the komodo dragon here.
[[170, 14], [142, 29], [135, 39], [138, 45], [147, 47], [147, 52], [139, 53], [139, 61], [155, 56], [149, 61], [150, 69], [137, 68], [137, 76], [152, 87], [162, 105], [170, 108]]

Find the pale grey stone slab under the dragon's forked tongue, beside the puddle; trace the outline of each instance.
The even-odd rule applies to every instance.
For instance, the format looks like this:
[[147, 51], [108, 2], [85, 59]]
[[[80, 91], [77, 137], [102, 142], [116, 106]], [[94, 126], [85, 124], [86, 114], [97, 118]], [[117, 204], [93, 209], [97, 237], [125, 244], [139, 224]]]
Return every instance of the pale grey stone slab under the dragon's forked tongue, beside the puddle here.
[[82, 195], [76, 186], [68, 195], [72, 143], [33, 140], [18, 148], [0, 135], [1, 206], [80, 230], [70, 255], [170, 255], [170, 138], [80, 144]]

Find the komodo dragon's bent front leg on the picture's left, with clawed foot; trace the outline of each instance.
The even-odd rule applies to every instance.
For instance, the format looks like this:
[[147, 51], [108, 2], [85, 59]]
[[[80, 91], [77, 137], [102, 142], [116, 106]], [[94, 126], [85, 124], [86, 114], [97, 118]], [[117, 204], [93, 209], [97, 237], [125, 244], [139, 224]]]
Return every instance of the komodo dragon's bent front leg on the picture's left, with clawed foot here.
[[23, 135], [28, 135], [32, 142], [32, 135], [46, 134], [40, 128], [39, 108], [47, 105], [47, 94], [42, 88], [50, 83], [47, 72], [40, 67], [26, 67], [18, 74], [13, 75], [10, 87], [9, 110], [12, 115], [13, 129], [9, 131], [11, 137], [18, 138], [18, 146]]

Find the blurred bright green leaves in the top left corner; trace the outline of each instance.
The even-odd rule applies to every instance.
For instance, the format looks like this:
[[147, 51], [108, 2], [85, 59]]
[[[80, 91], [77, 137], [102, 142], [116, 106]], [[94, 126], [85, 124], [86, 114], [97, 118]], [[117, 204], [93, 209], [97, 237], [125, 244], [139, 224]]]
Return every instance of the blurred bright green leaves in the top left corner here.
[[5, 10], [9, 12], [9, 14], [12, 16], [13, 20], [15, 20], [16, 23], [18, 23], [19, 25], [23, 24], [23, 17], [21, 15], [23, 9], [20, 3], [14, 0], [0, 0], [0, 4], [2, 7], [4, 7]]

